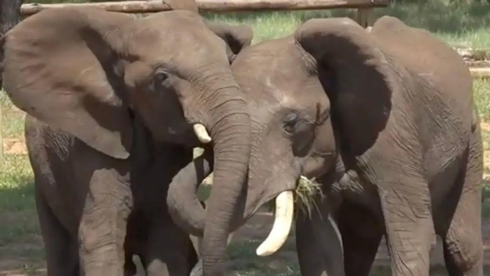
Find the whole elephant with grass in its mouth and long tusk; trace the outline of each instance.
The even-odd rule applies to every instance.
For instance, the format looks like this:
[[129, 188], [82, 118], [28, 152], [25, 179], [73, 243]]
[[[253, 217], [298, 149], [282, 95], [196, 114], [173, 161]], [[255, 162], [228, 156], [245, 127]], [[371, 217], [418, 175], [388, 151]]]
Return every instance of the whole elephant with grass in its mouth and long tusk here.
[[[383, 235], [393, 275], [428, 276], [435, 235], [451, 276], [483, 275], [482, 138], [472, 79], [458, 53], [389, 16], [370, 31], [347, 18], [311, 19], [292, 35], [248, 47], [232, 71], [252, 124], [237, 225], [270, 198], [290, 197], [285, 191], [300, 175], [317, 177], [331, 204], [319, 197], [319, 212], [298, 213], [303, 276], [368, 275]], [[172, 217], [202, 227], [199, 211], [184, 212], [199, 209], [193, 195], [172, 187]], [[279, 210], [292, 208], [292, 198], [286, 201]], [[332, 212], [345, 268], [332, 267], [342, 255], [342, 247], [329, 247], [338, 236], [325, 230]], [[259, 255], [286, 239], [293, 212], [284, 213]], [[274, 232], [276, 225], [282, 231]]]

